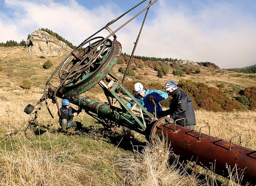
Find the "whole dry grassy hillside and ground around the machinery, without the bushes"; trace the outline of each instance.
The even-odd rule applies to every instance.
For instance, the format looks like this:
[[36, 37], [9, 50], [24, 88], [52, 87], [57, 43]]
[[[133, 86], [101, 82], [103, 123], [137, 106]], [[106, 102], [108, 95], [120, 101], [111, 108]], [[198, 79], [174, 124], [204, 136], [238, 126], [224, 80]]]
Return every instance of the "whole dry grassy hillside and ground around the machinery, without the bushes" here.
[[[58, 64], [67, 56], [30, 56], [23, 47], [0, 47], [0, 183], [3, 185], [88, 185], [88, 186], [148, 186], [148, 185], [235, 185], [193, 163], [182, 163], [171, 147], [159, 142], [147, 144], [144, 136], [123, 128], [106, 131], [93, 118], [80, 113], [75, 119], [83, 124], [82, 131], [60, 132], [56, 105], [49, 104], [52, 119], [44, 103], [31, 115], [23, 112], [27, 104], [35, 104], [42, 96], [44, 85]], [[47, 60], [51, 69], [42, 65]], [[136, 62], [136, 61], [135, 61]], [[229, 97], [239, 90], [255, 85], [254, 74], [235, 73], [197, 67], [201, 73], [162, 78], [148, 66], [135, 66], [135, 76], [129, 81], [164, 85], [173, 80], [191, 80], [210, 87], [220, 88]], [[122, 79], [118, 72], [125, 64], [117, 64], [112, 74]], [[138, 78], [139, 77], [139, 78]], [[33, 82], [31, 89], [20, 87], [23, 79]], [[58, 84], [58, 79], [54, 82]], [[99, 87], [86, 92], [96, 101], [105, 101]], [[77, 106], [72, 105], [77, 108]], [[195, 130], [209, 124], [210, 135], [229, 141], [241, 135], [242, 146], [256, 149], [256, 112], [207, 112], [196, 110]], [[208, 133], [207, 129], [203, 130]], [[238, 140], [234, 140], [238, 144]], [[170, 159], [169, 164], [167, 159]]]

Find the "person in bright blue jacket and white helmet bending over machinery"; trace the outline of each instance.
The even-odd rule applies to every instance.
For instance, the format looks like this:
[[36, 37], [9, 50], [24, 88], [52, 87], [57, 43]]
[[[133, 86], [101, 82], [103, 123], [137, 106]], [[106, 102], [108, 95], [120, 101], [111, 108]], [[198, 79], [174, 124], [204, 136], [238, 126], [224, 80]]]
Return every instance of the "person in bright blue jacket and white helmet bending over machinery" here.
[[[151, 100], [154, 100], [157, 112], [162, 111], [162, 107], [159, 101], [168, 98], [168, 94], [161, 90], [148, 90], [140, 82], [134, 84], [134, 91], [137, 93], [135, 98], [145, 107], [148, 112], [154, 114], [155, 107]], [[133, 102], [133, 101], [132, 101]], [[132, 107], [129, 102], [126, 104], [128, 107]]]

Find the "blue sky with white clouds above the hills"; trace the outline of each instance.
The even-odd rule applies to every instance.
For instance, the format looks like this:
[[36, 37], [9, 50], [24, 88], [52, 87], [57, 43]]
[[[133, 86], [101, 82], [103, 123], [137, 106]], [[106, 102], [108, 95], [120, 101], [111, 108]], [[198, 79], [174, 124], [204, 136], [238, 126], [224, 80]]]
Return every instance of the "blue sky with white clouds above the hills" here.
[[[78, 46], [142, 0], [0, 0], [0, 42], [27, 40], [48, 28]], [[152, 0], [134, 55], [212, 62], [220, 68], [256, 64], [255, 0]], [[146, 0], [110, 25], [115, 31], [148, 6]], [[131, 54], [145, 11], [116, 32]], [[104, 29], [100, 36], [107, 37]]]

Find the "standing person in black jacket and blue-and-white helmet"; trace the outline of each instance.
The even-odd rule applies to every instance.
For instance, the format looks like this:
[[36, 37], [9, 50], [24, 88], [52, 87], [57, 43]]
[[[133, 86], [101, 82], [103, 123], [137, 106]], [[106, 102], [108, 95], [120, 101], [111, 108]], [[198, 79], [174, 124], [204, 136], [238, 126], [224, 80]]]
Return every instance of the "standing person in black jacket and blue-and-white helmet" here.
[[[165, 84], [165, 91], [169, 96], [173, 97], [171, 100], [170, 109], [160, 111], [157, 113], [157, 115], [170, 115], [170, 118], [174, 121], [185, 118], [185, 127], [194, 130], [196, 125], [196, 116], [192, 99], [180, 88], [178, 88], [174, 81], [169, 81]], [[184, 126], [184, 119], [178, 120], [176, 124]]]

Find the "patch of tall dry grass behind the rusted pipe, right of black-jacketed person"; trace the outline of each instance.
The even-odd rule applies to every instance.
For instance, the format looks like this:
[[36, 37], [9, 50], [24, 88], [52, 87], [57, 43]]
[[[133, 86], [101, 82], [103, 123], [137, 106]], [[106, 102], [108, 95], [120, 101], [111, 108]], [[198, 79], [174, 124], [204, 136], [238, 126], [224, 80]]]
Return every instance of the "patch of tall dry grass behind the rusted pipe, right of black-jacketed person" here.
[[[241, 145], [256, 149], [256, 112], [206, 112], [196, 111], [197, 125], [195, 130], [209, 124], [210, 135], [230, 141], [231, 137], [240, 135]], [[202, 129], [208, 134], [208, 129]], [[233, 141], [232, 141], [233, 142]], [[239, 138], [234, 138], [234, 143], [239, 144]]]

